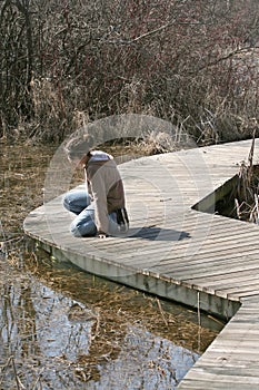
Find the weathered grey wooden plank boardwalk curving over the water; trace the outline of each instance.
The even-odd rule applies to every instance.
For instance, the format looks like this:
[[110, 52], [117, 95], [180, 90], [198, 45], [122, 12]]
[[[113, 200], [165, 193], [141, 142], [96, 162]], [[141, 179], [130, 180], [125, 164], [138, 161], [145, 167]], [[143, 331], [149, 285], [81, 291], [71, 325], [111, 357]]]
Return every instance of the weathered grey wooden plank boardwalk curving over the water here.
[[228, 193], [250, 147], [246, 140], [122, 164], [131, 222], [123, 237], [72, 237], [60, 196], [24, 221], [57, 259], [231, 318], [179, 389], [259, 389], [259, 228], [203, 213]]

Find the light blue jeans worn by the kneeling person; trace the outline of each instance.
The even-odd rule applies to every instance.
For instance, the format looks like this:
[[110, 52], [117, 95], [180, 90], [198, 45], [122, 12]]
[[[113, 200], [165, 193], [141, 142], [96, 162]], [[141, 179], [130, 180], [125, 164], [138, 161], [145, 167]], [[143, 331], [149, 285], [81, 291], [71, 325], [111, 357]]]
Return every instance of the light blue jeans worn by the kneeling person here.
[[[74, 237], [94, 236], [97, 234], [97, 226], [94, 224], [94, 205], [87, 191], [77, 189], [70, 191], [63, 197], [63, 206], [69, 212], [77, 216], [71, 223], [70, 231]], [[109, 214], [109, 232], [116, 234], [118, 225], [116, 223], [116, 213]]]

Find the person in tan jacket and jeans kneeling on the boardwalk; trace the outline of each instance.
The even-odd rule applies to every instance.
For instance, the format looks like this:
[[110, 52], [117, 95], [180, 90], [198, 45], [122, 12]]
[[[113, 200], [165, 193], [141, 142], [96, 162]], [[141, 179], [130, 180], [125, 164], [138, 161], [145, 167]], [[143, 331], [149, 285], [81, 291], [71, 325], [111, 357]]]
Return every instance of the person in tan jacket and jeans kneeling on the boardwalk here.
[[123, 183], [113, 157], [102, 150], [87, 150], [88, 142], [70, 140], [68, 158], [86, 173], [87, 188], [64, 195], [64, 207], [77, 214], [71, 224], [74, 236], [106, 237], [129, 228]]

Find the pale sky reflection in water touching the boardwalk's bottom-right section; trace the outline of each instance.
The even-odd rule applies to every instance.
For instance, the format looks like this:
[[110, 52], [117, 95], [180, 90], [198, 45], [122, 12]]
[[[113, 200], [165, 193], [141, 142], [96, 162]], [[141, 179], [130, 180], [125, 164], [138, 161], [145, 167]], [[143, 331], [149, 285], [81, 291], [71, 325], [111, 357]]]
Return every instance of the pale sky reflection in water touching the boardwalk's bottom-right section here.
[[175, 389], [199, 354], [145, 329], [129, 328], [118, 358], [89, 389]]

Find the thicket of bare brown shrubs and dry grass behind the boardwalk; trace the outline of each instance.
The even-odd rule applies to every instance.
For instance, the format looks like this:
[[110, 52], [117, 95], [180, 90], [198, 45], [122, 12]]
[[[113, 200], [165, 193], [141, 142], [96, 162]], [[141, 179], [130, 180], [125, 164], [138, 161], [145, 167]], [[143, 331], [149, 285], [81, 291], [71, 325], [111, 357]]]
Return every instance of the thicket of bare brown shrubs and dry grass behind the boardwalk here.
[[3, 0], [0, 136], [149, 114], [199, 144], [258, 129], [257, 0]]

